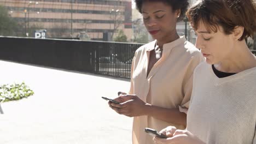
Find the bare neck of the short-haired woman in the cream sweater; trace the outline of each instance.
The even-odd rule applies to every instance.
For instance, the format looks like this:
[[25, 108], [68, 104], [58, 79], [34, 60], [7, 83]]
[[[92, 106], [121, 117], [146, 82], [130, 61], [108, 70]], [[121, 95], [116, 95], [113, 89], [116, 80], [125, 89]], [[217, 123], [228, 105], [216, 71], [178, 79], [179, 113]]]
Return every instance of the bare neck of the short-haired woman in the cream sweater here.
[[256, 67], [256, 57], [249, 50], [245, 40], [238, 41], [234, 46], [234, 51], [232, 51], [230, 57], [218, 64], [214, 64], [216, 69], [226, 73], [239, 73]]

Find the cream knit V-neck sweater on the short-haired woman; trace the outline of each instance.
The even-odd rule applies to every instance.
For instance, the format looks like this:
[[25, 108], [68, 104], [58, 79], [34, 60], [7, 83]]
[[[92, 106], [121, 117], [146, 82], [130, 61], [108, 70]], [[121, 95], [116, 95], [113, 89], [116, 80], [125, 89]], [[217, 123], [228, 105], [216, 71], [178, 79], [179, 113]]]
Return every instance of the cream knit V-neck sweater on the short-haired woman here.
[[187, 130], [207, 144], [256, 144], [256, 67], [219, 79], [210, 64], [194, 71]]

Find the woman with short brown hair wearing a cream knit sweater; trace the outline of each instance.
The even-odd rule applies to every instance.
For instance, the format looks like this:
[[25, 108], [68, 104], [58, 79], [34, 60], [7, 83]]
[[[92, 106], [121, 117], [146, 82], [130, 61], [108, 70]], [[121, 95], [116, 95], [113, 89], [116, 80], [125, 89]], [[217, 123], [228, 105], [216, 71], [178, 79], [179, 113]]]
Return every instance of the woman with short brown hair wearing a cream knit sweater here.
[[161, 144], [256, 144], [256, 1], [200, 0], [187, 12], [206, 62], [194, 71], [187, 130], [167, 127]]

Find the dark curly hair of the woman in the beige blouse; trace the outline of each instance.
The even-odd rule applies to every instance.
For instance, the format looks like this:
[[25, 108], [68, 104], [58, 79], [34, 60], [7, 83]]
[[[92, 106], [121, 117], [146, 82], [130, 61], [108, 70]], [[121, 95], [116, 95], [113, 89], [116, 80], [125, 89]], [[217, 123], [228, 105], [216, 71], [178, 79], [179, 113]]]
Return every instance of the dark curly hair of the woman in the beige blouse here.
[[143, 2], [163, 2], [170, 5], [172, 7], [172, 11], [181, 9], [181, 15], [177, 21], [183, 21], [189, 5], [188, 0], [134, 0], [134, 2], [136, 3], [136, 8], [139, 13], [142, 13], [141, 7]]

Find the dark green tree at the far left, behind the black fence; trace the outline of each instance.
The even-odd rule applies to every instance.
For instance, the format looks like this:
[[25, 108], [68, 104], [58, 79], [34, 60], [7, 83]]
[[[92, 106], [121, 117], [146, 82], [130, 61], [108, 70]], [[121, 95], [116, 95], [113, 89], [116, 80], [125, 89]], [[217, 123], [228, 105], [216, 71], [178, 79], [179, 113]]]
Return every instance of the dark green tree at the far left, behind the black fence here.
[[0, 5], [0, 35], [15, 36], [18, 31], [18, 23], [8, 14], [8, 10]]

